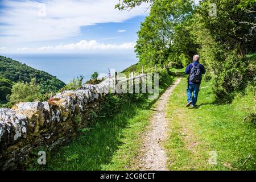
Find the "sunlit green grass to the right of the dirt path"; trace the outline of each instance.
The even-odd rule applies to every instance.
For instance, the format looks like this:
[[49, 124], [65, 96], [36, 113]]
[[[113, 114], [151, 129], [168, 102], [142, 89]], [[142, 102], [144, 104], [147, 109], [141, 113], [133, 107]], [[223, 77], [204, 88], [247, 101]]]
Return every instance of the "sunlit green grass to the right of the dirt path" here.
[[[198, 109], [187, 109], [187, 81], [182, 78], [170, 97], [167, 117], [169, 139], [165, 143], [170, 170], [255, 170], [256, 128], [244, 122], [254, 108], [253, 93], [238, 96], [232, 104], [217, 105], [212, 85], [201, 84]], [[210, 165], [210, 151], [217, 164]], [[249, 154], [251, 157], [246, 161]]]

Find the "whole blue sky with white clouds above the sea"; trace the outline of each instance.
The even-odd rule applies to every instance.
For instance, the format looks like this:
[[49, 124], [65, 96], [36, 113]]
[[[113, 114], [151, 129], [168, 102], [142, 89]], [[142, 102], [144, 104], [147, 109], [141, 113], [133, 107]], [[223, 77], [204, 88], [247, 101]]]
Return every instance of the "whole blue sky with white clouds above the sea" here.
[[131, 51], [148, 5], [118, 0], [0, 0], [0, 53]]

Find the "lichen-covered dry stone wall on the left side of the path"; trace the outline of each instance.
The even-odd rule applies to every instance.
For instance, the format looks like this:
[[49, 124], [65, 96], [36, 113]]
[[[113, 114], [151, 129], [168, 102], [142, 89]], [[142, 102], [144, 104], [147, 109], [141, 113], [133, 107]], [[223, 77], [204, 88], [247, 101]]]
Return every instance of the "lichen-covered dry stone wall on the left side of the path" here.
[[0, 109], [0, 169], [25, 169], [35, 148], [68, 142], [100, 110], [109, 81], [56, 94], [47, 102]]

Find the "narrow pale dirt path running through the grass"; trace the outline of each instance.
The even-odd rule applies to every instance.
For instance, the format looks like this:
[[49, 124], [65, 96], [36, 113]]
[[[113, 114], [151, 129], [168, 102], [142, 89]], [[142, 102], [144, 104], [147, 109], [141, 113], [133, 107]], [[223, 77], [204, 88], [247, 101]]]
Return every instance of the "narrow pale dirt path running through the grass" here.
[[181, 77], [177, 78], [166, 92], [156, 102], [154, 114], [150, 121], [151, 130], [148, 130], [143, 142], [142, 157], [139, 159], [141, 170], [166, 171], [167, 155], [162, 142], [167, 139], [167, 126], [165, 108], [172, 90], [179, 84]]

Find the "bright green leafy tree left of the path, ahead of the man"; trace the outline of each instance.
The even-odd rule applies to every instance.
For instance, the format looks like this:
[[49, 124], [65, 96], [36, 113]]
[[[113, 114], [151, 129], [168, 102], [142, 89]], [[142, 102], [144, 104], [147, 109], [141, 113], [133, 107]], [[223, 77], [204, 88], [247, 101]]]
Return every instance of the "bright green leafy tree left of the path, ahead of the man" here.
[[[135, 52], [146, 66], [167, 64], [174, 55], [176, 29], [192, 11], [191, 1], [155, 1], [150, 15], [141, 23]], [[180, 36], [180, 35], [178, 35]]]

